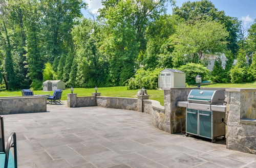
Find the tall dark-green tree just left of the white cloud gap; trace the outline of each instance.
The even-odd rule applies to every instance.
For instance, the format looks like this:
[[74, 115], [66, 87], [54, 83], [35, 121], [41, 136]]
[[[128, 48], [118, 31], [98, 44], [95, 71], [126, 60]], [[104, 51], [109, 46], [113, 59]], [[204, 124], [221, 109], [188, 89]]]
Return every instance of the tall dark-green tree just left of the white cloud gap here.
[[[42, 17], [42, 40], [44, 55], [57, 71], [60, 56], [68, 52], [71, 40], [70, 33], [76, 24], [76, 18], [82, 16], [81, 9], [85, 7], [82, 0], [42, 0], [40, 1]], [[61, 63], [62, 64], [62, 63]], [[61, 73], [62, 69], [60, 69]]]

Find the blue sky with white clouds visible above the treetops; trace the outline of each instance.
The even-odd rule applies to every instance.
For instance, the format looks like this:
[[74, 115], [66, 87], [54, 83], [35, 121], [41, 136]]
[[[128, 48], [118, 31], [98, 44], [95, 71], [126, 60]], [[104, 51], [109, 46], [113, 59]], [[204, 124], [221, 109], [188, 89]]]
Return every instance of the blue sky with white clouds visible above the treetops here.
[[[99, 8], [102, 8], [101, 0], [84, 0], [92, 13], [97, 13]], [[198, 0], [190, 0], [194, 2]], [[251, 24], [256, 18], [256, 0], [210, 0], [218, 10], [225, 11], [226, 15], [238, 17], [246, 24]], [[176, 0], [176, 5], [181, 7], [187, 0]], [[168, 7], [167, 13], [172, 13], [171, 6]], [[87, 12], [84, 16], [89, 17]]]

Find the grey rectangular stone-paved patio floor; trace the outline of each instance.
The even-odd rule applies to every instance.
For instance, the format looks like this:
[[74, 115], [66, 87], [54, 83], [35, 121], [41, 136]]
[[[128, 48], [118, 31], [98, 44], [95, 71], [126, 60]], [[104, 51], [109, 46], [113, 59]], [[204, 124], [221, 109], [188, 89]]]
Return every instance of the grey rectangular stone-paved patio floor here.
[[[17, 133], [19, 167], [256, 167], [256, 155], [223, 141], [169, 134], [133, 110], [48, 105], [46, 113], [5, 115]], [[7, 137], [6, 137], [7, 139]]]

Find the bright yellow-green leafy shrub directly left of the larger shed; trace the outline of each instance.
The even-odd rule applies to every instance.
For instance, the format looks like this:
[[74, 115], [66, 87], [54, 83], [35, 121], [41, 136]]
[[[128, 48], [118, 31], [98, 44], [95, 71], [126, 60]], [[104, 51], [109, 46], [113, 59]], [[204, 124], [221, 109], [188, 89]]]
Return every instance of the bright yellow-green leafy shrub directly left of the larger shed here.
[[144, 70], [140, 68], [136, 71], [134, 77], [127, 80], [127, 89], [157, 89], [158, 88], [158, 74], [162, 69], [156, 68], [154, 70]]

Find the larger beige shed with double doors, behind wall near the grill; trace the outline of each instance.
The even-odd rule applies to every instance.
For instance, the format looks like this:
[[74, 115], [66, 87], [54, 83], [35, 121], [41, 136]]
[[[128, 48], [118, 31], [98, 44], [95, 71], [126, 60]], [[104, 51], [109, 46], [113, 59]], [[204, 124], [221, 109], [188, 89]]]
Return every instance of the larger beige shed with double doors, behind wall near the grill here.
[[164, 69], [158, 76], [158, 88], [185, 88], [186, 74], [177, 69]]

